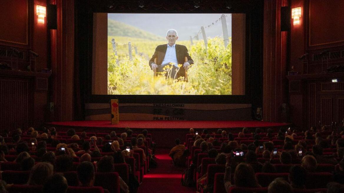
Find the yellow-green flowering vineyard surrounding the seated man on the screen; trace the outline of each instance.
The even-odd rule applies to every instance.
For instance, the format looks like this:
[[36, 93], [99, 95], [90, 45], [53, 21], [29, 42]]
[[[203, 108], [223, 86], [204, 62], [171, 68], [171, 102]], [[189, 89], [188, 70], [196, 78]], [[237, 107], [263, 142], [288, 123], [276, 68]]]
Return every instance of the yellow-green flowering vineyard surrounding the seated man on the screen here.
[[[173, 80], [163, 75], [153, 76], [148, 65], [157, 45], [166, 41], [108, 36], [108, 41], [132, 44], [132, 59], [128, 45], [117, 45], [117, 56], [108, 44], [108, 94], [164, 94], [164, 95], [228, 95], [232, 94], [232, 44], [224, 48], [223, 38], [208, 38], [204, 42], [177, 41], [185, 45], [194, 64], [188, 70], [188, 81]], [[137, 54], [135, 48], [137, 49]]]

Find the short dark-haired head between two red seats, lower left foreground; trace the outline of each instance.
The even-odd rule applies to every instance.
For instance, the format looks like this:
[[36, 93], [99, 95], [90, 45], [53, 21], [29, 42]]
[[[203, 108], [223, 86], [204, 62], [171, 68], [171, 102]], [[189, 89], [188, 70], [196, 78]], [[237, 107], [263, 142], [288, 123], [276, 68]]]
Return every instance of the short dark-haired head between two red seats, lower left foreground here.
[[78, 179], [82, 186], [93, 186], [94, 167], [91, 162], [83, 161], [77, 167]]

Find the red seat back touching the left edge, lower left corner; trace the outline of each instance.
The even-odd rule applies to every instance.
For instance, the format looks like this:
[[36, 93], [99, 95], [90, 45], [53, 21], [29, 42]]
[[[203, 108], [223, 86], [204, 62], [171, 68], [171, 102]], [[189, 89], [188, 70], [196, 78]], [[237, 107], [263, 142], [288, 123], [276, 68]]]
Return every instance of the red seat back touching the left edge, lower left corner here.
[[30, 171], [6, 170], [1, 173], [1, 178], [8, 184], [26, 184], [29, 180]]

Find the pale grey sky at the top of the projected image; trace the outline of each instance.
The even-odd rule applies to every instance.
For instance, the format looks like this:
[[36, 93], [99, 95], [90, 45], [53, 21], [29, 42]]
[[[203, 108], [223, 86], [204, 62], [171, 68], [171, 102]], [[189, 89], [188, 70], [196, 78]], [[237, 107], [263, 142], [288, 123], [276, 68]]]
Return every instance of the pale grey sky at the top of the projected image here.
[[[190, 36], [194, 36], [200, 31], [201, 26], [212, 25], [205, 28], [207, 37], [222, 36], [222, 23], [219, 20], [221, 13], [109, 13], [108, 18], [119, 22], [126, 23], [138, 27], [139, 29], [154, 33], [165, 37], [166, 31], [175, 29], [178, 32], [179, 40], [190, 40]], [[225, 14], [228, 35], [232, 36], [232, 15]], [[202, 34], [198, 35], [202, 39]]]

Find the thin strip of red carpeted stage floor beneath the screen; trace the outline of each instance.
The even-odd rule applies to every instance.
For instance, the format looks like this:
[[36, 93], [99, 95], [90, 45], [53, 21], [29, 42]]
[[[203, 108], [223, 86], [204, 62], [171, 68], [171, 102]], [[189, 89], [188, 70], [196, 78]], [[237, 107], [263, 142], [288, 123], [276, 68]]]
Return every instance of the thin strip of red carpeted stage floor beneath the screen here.
[[264, 121], [120, 121], [111, 124], [110, 121], [66, 121], [51, 122], [51, 125], [66, 127], [93, 128], [141, 128], [141, 129], [189, 129], [189, 128], [242, 128], [242, 127], [280, 127], [289, 123], [272, 123]]

